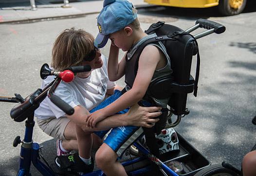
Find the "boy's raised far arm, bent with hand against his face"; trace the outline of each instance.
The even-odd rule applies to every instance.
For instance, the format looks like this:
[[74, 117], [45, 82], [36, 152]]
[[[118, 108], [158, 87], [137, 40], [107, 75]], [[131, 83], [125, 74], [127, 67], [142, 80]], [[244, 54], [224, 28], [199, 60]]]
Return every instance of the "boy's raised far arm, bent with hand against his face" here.
[[108, 75], [110, 81], [117, 81], [125, 74], [125, 56], [120, 63], [118, 63], [118, 55], [119, 48], [111, 44], [108, 60]]

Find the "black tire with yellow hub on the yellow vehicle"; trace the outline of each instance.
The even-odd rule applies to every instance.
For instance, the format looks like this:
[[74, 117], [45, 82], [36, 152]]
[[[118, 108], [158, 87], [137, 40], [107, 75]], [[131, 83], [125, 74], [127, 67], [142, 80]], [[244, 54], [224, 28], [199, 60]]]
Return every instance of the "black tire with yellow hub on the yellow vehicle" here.
[[224, 16], [240, 14], [246, 5], [247, 0], [219, 0], [219, 12]]

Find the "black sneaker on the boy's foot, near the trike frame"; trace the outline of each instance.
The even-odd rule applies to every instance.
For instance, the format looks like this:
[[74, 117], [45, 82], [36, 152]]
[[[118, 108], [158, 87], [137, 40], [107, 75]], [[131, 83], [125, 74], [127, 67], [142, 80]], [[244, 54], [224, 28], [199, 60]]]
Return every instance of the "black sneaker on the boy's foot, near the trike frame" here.
[[72, 172], [83, 175], [85, 173], [92, 172], [94, 168], [94, 160], [92, 157], [91, 163], [85, 164], [79, 157], [78, 153], [67, 156], [57, 156], [55, 158], [55, 164], [59, 167], [59, 174]]

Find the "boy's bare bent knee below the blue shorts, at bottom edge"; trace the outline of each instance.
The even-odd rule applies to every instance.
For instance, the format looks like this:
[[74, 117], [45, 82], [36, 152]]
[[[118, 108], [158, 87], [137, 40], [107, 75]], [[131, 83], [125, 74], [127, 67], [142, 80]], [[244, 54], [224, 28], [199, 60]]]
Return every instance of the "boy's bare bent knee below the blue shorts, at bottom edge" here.
[[107, 176], [127, 176], [125, 168], [117, 160], [117, 154], [106, 143], [96, 152], [95, 161]]

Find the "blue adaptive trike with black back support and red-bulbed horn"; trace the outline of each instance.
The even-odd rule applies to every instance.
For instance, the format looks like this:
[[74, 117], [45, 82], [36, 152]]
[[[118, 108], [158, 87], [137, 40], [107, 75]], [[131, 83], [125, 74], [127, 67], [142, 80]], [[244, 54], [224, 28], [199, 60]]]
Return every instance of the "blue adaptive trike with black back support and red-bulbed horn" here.
[[[157, 25], [163, 25], [163, 22], [158, 22]], [[201, 32], [197, 35], [191, 35], [190, 32], [198, 29], [204, 28], [206, 31]], [[171, 54], [171, 63], [174, 68], [175, 79], [169, 84], [168, 87], [161, 87], [163, 80], [157, 82], [154, 86], [161, 87], [161, 91], [166, 91], [166, 89], [171, 89], [173, 97], [172, 102], [170, 102], [170, 114], [168, 121], [165, 126], [165, 130], [173, 128], [178, 125], [183, 116], [189, 113], [189, 110], [186, 108], [186, 99], [187, 94], [194, 91], [196, 96], [197, 81], [199, 75], [199, 50], [196, 39], [201, 38], [205, 35], [212, 33], [220, 34], [225, 31], [225, 27], [219, 23], [199, 19], [196, 21], [196, 24], [191, 28], [183, 31], [182, 29], [172, 26], [171, 33], [174, 35], [165, 35], [163, 38], [169, 40], [171, 38], [175, 42], [179, 42], [178, 47], [173, 47], [175, 51], [170, 51]], [[179, 41], [180, 38], [176, 38], [178, 35], [184, 35], [183, 41]], [[160, 37], [161, 38], [161, 37]], [[184, 53], [184, 54], [181, 54]], [[193, 55], [198, 55], [197, 57], [197, 72], [196, 72], [196, 81], [190, 75], [191, 61]], [[182, 55], [182, 56], [181, 56]], [[181, 64], [182, 63], [182, 64]], [[185, 68], [185, 69], [184, 69]], [[58, 72], [51, 70], [47, 64], [44, 64], [40, 70], [40, 76], [42, 79], [49, 75], [55, 75], [55, 80], [50, 83], [44, 89], [37, 89], [35, 92], [30, 94], [27, 98], [22, 98], [19, 94], [15, 94], [15, 97], [0, 97], [1, 102], [13, 102], [18, 103], [17, 106], [13, 107], [10, 113], [12, 119], [16, 122], [25, 121], [25, 135], [24, 139], [21, 141], [20, 136], [16, 137], [13, 143], [14, 147], [17, 147], [21, 143], [20, 149], [20, 158], [19, 158], [19, 171], [18, 176], [30, 176], [30, 166], [31, 162], [36, 167], [36, 169], [43, 176], [55, 176], [58, 175], [53, 168], [53, 165], [50, 165], [43, 156], [40, 154], [40, 146], [38, 143], [33, 141], [33, 128], [35, 125], [34, 122], [34, 112], [40, 103], [48, 96], [50, 100], [64, 112], [71, 115], [73, 114], [74, 109], [67, 105], [63, 100], [57, 97], [54, 94], [55, 89], [62, 80], [67, 80], [68, 78], [63, 76], [67, 75], [64, 72], [73, 74], [76, 72], [83, 72], [90, 70], [90, 67], [72, 67]], [[183, 72], [181, 72], [183, 70]], [[179, 76], [177, 76], [179, 75]], [[175, 121], [173, 121], [172, 114], [177, 115]], [[201, 155], [188, 141], [186, 141], [181, 134], [178, 132], [175, 133], [176, 136], [171, 136], [172, 142], [179, 141], [179, 147], [176, 150], [168, 150], [163, 152], [159, 158], [155, 157], [150, 151], [142, 145], [142, 142], [136, 141], [128, 149], [128, 153], [132, 157], [124, 160], [122, 165], [125, 167], [128, 175], [130, 176], [150, 176], [152, 172], [151, 164], [158, 166], [158, 175], [163, 176], [199, 176], [197, 173], [200, 173], [204, 168], [209, 168], [211, 163]], [[161, 141], [159, 141], [161, 144]], [[162, 141], [163, 142], [163, 141]], [[231, 176], [238, 174], [235, 170], [232, 170], [228, 164], [227, 167], [223, 167], [224, 170], [221, 171], [221, 176]], [[219, 172], [219, 171], [218, 171]], [[218, 173], [216, 172], [216, 173]], [[213, 173], [212, 175], [214, 175]], [[229, 174], [229, 175], [228, 175]], [[233, 174], [233, 175], [232, 175]], [[77, 173], [67, 173], [67, 175], [77, 175]], [[207, 174], [201, 174], [201, 176], [212, 176]], [[104, 176], [104, 173], [101, 170], [97, 170], [91, 173], [83, 174], [83, 176]]]

